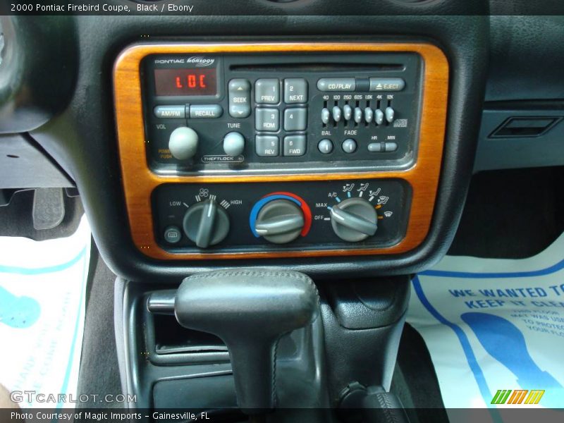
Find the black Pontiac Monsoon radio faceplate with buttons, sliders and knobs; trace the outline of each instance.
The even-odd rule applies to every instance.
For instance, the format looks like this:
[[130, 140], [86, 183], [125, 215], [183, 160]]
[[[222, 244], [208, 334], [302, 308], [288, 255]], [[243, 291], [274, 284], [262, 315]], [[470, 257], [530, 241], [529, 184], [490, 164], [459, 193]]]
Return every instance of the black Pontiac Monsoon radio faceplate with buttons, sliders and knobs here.
[[[152, 54], [141, 70], [157, 173], [406, 168], [416, 159], [416, 53]], [[175, 154], [173, 138], [192, 142], [190, 157], [189, 147]]]

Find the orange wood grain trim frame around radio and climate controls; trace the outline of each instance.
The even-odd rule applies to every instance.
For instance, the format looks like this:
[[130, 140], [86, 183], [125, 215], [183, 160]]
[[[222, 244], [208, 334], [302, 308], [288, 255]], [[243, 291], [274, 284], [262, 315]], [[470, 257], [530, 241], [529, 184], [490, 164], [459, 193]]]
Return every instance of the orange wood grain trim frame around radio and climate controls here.
[[[422, 113], [419, 151], [411, 168], [403, 171], [361, 173], [288, 174], [260, 176], [159, 176], [149, 170], [145, 154], [140, 63], [148, 54], [204, 53], [300, 53], [311, 51], [415, 52], [423, 59]], [[125, 49], [114, 66], [114, 101], [119, 159], [133, 243], [154, 259], [254, 259], [276, 257], [326, 257], [336, 255], [381, 255], [401, 253], [417, 247], [429, 232], [435, 204], [448, 100], [448, 61], [443, 52], [426, 43], [233, 43], [233, 44], [135, 44]], [[357, 178], [401, 178], [412, 186], [412, 204], [407, 232], [400, 243], [386, 248], [244, 252], [171, 253], [154, 238], [151, 193], [162, 183], [245, 183], [284, 180], [341, 180]]]

